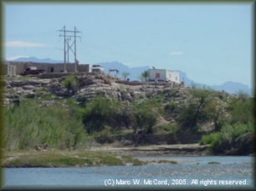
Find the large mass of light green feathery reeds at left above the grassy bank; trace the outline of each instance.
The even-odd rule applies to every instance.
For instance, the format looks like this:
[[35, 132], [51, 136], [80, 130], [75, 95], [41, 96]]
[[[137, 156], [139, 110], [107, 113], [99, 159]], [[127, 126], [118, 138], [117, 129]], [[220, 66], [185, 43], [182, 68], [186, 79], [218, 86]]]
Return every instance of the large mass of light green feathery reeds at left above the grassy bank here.
[[37, 100], [25, 99], [20, 106], [8, 106], [4, 113], [7, 150], [31, 149], [42, 143], [62, 149], [84, 145], [83, 124], [57, 103], [44, 107]]

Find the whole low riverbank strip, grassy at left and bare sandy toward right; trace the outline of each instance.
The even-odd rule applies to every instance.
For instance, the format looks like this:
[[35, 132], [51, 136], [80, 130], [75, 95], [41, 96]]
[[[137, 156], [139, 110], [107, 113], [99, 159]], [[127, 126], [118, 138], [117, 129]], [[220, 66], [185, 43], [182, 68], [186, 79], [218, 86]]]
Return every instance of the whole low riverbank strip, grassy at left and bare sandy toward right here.
[[113, 145], [92, 147], [90, 150], [7, 151], [2, 167], [5, 168], [54, 168], [143, 165], [146, 163], [177, 163], [172, 160], [141, 161], [138, 156], [200, 156], [207, 155], [207, 146], [151, 145], [117, 148]]

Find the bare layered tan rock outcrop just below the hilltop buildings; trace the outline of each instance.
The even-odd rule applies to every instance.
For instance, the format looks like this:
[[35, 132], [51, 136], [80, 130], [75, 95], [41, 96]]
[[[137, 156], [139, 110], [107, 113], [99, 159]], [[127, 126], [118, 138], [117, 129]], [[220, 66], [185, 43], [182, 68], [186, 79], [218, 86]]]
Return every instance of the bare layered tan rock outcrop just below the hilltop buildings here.
[[43, 98], [46, 95], [59, 98], [75, 98], [79, 103], [90, 101], [96, 95], [114, 98], [120, 101], [134, 101], [152, 94], [164, 93], [170, 88], [182, 88], [176, 83], [127, 82], [107, 74], [85, 73], [76, 75], [77, 89], [70, 91], [62, 85], [69, 73], [43, 73], [38, 77], [6, 77], [3, 86], [6, 89], [3, 105], [17, 102], [21, 98]]

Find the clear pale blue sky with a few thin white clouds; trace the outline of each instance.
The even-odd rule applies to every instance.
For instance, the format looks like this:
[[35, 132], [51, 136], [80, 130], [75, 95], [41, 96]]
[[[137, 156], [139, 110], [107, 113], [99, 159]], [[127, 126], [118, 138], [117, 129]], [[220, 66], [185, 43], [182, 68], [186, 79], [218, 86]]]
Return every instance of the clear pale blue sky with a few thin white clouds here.
[[[4, 3], [3, 57], [181, 70], [209, 86], [253, 86], [252, 3]], [[69, 46], [74, 43], [74, 33]], [[72, 46], [74, 51], [74, 44]], [[74, 54], [69, 50], [69, 62]]]

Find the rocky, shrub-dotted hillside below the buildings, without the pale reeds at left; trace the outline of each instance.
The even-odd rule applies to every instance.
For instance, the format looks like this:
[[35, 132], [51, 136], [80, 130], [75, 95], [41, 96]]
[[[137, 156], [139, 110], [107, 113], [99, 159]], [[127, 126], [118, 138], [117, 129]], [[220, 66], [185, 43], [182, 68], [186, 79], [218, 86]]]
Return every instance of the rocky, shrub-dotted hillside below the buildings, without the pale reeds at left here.
[[[236, 107], [251, 100], [243, 93], [231, 95], [211, 89], [184, 88], [176, 83], [127, 82], [101, 73], [6, 76], [2, 84], [6, 90], [4, 106], [22, 106], [24, 100], [33, 99], [46, 106], [60, 102], [67, 108], [66, 101], [71, 98], [79, 108], [85, 108], [84, 129], [89, 134], [98, 132], [96, 142], [119, 142], [126, 146], [213, 143], [214, 138], [208, 138], [212, 136], [210, 133], [224, 131], [224, 124], [248, 123], [248, 118], [239, 115]], [[94, 101], [95, 98], [107, 98], [110, 103], [102, 99], [102, 102]], [[239, 143], [243, 146], [251, 144], [242, 140], [242, 134], [248, 133], [248, 128], [244, 129], [244, 132], [230, 137], [223, 147], [235, 153], [242, 145], [234, 138], [240, 138]], [[202, 141], [203, 136], [211, 140]], [[235, 148], [233, 144], [236, 144]]]

